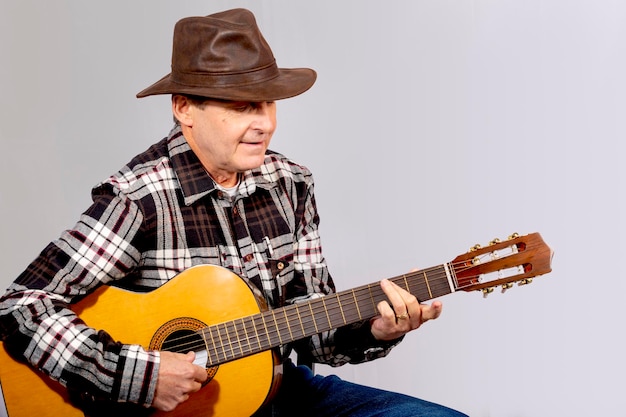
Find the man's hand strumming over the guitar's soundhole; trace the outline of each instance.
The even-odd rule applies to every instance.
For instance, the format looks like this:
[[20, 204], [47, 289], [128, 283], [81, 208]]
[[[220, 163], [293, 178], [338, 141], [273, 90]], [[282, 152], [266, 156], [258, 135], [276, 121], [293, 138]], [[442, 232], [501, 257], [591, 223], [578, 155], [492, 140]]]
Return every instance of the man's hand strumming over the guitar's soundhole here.
[[202, 387], [207, 374], [203, 367], [193, 364], [194, 352], [183, 355], [162, 351], [160, 355], [159, 379], [152, 406], [157, 410], [172, 411]]

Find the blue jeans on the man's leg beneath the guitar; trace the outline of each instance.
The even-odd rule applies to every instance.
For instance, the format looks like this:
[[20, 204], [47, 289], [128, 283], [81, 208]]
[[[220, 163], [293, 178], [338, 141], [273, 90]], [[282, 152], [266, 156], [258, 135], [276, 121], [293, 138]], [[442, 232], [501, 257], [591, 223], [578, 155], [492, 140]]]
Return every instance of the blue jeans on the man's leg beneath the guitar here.
[[467, 417], [408, 395], [314, 375], [306, 366], [284, 364], [283, 382], [272, 409], [254, 417]]

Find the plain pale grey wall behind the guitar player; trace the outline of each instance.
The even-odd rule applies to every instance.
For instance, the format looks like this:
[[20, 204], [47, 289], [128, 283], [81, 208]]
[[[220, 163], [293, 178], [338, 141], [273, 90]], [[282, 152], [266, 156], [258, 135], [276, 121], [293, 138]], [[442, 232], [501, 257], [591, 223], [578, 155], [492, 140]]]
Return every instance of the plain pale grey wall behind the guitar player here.
[[[442, 299], [388, 358], [331, 369], [471, 416], [624, 415], [626, 3], [0, 1], [0, 285], [171, 127], [174, 23], [243, 6], [318, 71], [272, 148], [315, 174], [339, 289], [540, 232], [553, 272]], [[1, 415], [1, 412], [0, 412]]]

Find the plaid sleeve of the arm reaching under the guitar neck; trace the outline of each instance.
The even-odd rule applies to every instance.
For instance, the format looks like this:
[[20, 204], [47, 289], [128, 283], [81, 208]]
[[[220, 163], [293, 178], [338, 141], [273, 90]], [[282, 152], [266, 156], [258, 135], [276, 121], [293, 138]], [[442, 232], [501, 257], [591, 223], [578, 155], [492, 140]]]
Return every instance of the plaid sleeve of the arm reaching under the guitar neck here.
[[[301, 274], [307, 288], [307, 295], [292, 302], [310, 300], [335, 292], [333, 279], [322, 256], [319, 236], [319, 215], [313, 193], [313, 180], [304, 199], [303, 210], [299, 215], [295, 265], [296, 273]], [[298, 278], [296, 278], [298, 279]], [[298, 355], [306, 361], [341, 366], [346, 363], [361, 363], [387, 356], [402, 338], [394, 341], [379, 341], [371, 333], [369, 320], [322, 332], [294, 344]]]

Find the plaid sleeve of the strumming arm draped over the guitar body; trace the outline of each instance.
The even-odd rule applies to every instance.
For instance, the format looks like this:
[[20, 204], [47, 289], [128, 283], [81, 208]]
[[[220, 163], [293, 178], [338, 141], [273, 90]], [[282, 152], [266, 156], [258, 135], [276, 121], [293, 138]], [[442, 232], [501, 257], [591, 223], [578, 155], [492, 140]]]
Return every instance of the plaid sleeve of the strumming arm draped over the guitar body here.
[[71, 310], [73, 302], [137, 266], [133, 241], [141, 224], [141, 211], [123, 195], [94, 193], [75, 227], [50, 243], [0, 298], [7, 350], [70, 391], [150, 405], [158, 353], [115, 341]]

